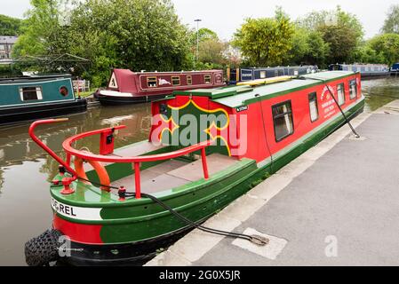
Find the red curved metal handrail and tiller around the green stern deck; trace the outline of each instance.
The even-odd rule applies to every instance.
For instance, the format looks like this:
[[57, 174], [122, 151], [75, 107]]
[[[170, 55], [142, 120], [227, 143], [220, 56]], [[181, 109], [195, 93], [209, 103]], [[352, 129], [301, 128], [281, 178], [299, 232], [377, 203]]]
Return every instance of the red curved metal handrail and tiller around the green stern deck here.
[[[116, 126], [114, 128], [107, 128], [103, 130], [92, 130], [88, 132], [84, 132], [81, 134], [77, 134], [71, 138], [66, 139], [62, 143], [62, 147], [64, 148], [64, 151], [67, 154], [67, 161], [64, 162], [57, 154], [55, 154], [52, 149], [50, 149], [48, 146], [46, 146], [39, 138], [36, 137], [35, 135], [35, 129], [38, 125], [41, 124], [48, 124], [48, 123], [54, 123], [54, 122], [66, 122], [68, 121], [68, 118], [62, 118], [62, 119], [50, 119], [50, 120], [42, 120], [42, 121], [37, 121], [33, 122], [30, 125], [29, 128], [29, 135], [30, 137], [36, 142], [38, 146], [41, 146], [44, 151], [46, 151], [48, 154], [52, 156], [54, 160], [57, 162], [60, 162], [62, 166], [65, 167], [68, 172], [70, 172], [74, 177], [70, 178], [70, 181], [74, 181], [78, 178], [76, 170], [70, 167], [70, 161], [71, 161], [71, 156], [76, 156], [79, 158], [82, 158], [86, 161], [97, 161], [97, 162], [120, 162], [120, 163], [132, 163], [133, 164], [133, 170], [135, 174], [135, 185], [136, 185], [136, 199], [141, 198], [141, 190], [140, 190], [140, 163], [141, 162], [157, 162], [157, 161], [164, 161], [164, 160], [171, 160], [173, 158], [177, 158], [186, 154], [190, 154], [196, 151], [201, 151], [201, 157], [202, 157], [202, 162], [203, 162], [203, 177], [205, 179], [209, 178], [209, 173], [208, 173], [208, 165], [206, 162], [206, 153], [205, 153], [205, 148], [207, 146], [211, 146], [212, 141], [207, 140], [204, 142], [200, 142], [196, 145], [193, 146], [188, 146], [184, 149], [180, 149], [171, 153], [165, 153], [165, 154], [155, 154], [155, 155], [147, 155], [147, 156], [134, 156], [134, 157], [117, 157], [117, 156], [107, 156], [107, 155], [101, 155], [101, 154], [90, 154], [84, 151], [79, 151], [76, 150], [72, 144], [75, 143], [76, 141], [83, 139], [83, 138], [88, 138], [97, 134], [103, 134], [103, 133], [109, 133], [110, 130], [120, 130], [124, 129], [125, 126]], [[70, 185], [70, 183], [68, 184]], [[67, 185], [67, 186], [68, 186]], [[68, 189], [65, 192], [71, 193], [71, 191]]]

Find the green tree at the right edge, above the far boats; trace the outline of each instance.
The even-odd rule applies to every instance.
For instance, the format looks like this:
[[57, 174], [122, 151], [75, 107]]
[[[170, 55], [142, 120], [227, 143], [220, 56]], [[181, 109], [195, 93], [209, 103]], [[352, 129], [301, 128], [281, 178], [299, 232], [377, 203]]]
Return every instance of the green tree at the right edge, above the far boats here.
[[375, 36], [370, 40], [370, 46], [374, 51], [380, 52], [384, 62], [389, 66], [399, 62], [399, 35], [384, 34]]

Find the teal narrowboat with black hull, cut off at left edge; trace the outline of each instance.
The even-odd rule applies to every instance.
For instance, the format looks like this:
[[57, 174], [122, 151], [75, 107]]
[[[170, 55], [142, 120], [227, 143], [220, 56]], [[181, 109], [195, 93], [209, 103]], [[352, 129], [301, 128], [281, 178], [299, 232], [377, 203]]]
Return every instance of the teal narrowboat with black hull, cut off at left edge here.
[[69, 75], [0, 79], [0, 124], [81, 113], [85, 99], [76, 98]]

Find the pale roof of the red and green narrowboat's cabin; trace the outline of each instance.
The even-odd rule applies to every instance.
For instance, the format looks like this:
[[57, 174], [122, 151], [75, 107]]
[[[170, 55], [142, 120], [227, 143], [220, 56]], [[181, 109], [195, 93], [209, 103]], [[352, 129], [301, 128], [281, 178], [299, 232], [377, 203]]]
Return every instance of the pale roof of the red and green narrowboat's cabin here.
[[320, 84], [320, 81], [329, 83], [331, 81], [355, 75], [349, 71], [328, 71], [309, 75], [302, 75], [298, 78], [283, 83], [271, 83], [251, 88], [250, 86], [229, 86], [217, 89], [197, 89], [191, 91], [175, 91], [173, 96], [192, 95], [198, 97], [209, 97], [211, 100], [229, 107], [246, 106], [263, 99], [270, 99], [281, 96], [292, 91], [299, 91]]

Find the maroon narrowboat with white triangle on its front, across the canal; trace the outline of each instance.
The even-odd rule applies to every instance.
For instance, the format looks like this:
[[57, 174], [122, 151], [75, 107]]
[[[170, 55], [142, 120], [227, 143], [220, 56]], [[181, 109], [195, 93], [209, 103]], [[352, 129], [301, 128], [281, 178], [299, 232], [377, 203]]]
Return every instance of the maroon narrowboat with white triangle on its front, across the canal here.
[[114, 69], [107, 90], [98, 99], [103, 106], [116, 106], [162, 99], [173, 91], [224, 86], [222, 70], [188, 72], [141, 72]]

